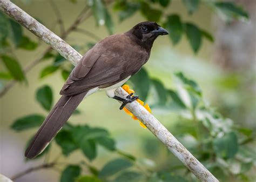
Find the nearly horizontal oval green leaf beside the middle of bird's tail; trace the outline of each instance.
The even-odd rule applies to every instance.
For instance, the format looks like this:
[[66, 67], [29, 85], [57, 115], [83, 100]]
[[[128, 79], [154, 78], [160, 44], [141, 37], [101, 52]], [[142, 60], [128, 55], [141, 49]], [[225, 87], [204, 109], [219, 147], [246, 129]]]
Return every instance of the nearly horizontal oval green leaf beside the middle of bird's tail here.
[[44, 116], [39, 114], [31, 114], [15, 120], [11, 125], [12, 130], [23, 131], [32, 129], [33, 127], [40, 126], [44, 121]]

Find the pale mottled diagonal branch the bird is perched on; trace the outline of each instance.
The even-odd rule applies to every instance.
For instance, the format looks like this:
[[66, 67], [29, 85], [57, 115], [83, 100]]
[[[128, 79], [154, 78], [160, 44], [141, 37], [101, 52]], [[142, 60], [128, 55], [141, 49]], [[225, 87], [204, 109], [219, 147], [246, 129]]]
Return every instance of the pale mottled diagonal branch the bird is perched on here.
[[[65, 43], [61, 38], [48, 30], [45, 26], [37, 22], [34, 18], [26, 14], [15, 4], [7, 0], [0, 0], [0, 9], [5, 14], [14, 18], [17, 22], [28, 28], [32, 33], [42, 38], [53, 49], [58, 51], [60, 55], [70, 60], [73, 64], [77, 64], [82, 58], [76, 50], [69, 44]], [[128, 94], [119, 87], [116, 95], [125, 98]], [[217, 182], [216, 179], [151, 113], [149, 113], [138, 102], [132, 102], [126, 105], [147, 128], [159, 138], [165, 146], [201, 181]]]

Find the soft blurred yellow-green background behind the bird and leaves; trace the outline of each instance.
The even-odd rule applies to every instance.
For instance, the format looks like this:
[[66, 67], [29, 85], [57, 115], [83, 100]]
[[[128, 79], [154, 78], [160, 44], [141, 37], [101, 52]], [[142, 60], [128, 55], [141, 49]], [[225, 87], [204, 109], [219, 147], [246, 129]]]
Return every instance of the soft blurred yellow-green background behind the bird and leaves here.
[[[43, 0], [12, 2], [28, 12], [32, 17], [38, 19], [38, 21], [57, 35], [61, 35], [62, 32], [59, 29], [59, 24], [56, 23], [55, 8], [59, 10], [64, 28], [66, 29], [74, 22], [74, 19], [76, 19], [79, 12], [82, 11], [86, 5], [86, 1], [68, 0], [54, 1], [55, 5], [52, 4], [52, 1]], [[150, 18], [138, 10], [131, 17], [120, 22], [119, 18], [120, 11], [123, 11], [122, 8], [113, 10], [114, 4], [118, 2], [121, 1], [115, 1], [114, 3], [105, 2], [105, 5], [108, 4], [106, 7], [112, 17], [114, 25], [113, 33], [125, 32], [131, 29], [135, 24]], [[239, 130], [247, 130], [249, 134], [247, 133], [247, 138], [245, 137], [245, 139], [250, 141], [245, 145], [239, 146], [239, 152], [241, 152], [240, 149], [248, 149], [246, 151], [247, 153], [245, 152], [246, 157], [241, 157], [240, 153], [236, 153], [236, 156], [232, 156], [232, 158], [229, 159], [208, 160], [206, 156], [209, 153], [204, 153], [205, 149], [197, 148], [199, 139], [191, 134], [191, 131], [194, 131], [197, 127], [197, 124], [191, 122], [189, 117], [187, 118], [183, 113], [172, 107], [163, 109], [163, 107], [159, 108], [158, 106], [154, 106], [156, 105], [153, 99], [154, 91], [149, 93], [145, 102], [152, 106], [151, 109], [154, 116], [156, 116], [188, 150], [191, 149], [191, 152], [201, 159], [199, 159], [200, 161], [204, 161], [203, 163], [207, 167], [210, 167], [213, 174], [221, 181], [254, 181], [255, 133], [253, 131], [256, 129], [255, 1], [234, 1], [234, 3], [242, 5], [250, 15], [250, 19], [247, 21], [244, 17], [237, 18], [235, 16], [235, 19], [223, 19], [223, 15], [219, 16], [218, 11], [213, 11], [211, 6], [205, 3], [207, 1], [200, 1], [200, 5], [193, 13], [187, 10], [189, 6], [185, 4], [186, 1], [167, 1], [169, 2], [167, 7], [161, 6], [161, 4], [158, 4], [158, 1], [145, 2], [149, 3], [153, 8], [163, 10], [162, 18], [159, 19], [158, 24], [168, 26], [166, 25], [167, 15], [178, 14], [183, 22], [192, 22], [200, 29], [211, 33], [214, 37], [213, 43], [203, 38], [201, 47], [197, 53], [194, 53], [185, 33], [177, 45], [173, 45], [170, 38], [167, 36], [159, 37], [156, 42], [154, 42], [151, 57], [144, 68], [150, 78], [160, 80], [166, 89], [177, 89], [175, 76], [173, 75], [173, 73], [176, 72], [183, 72], [187, 78], [194, 80], [203, 92], [203, 97], [200, 97], [205, 105], [211, 105], [212, 110], [218, 111], [224, 118], [232, 119], [232, 129], [235, 130], [239, 128]], [[81, 31], [73, 31], [65, 39], [70, 45], [79, 47], [79, 52], [82, 55], [89, 49], [88, 43], [96, 43], [99, 39], [109, 35], [105, 26], [97, 26], [96, 21], [97, 19], [95, 19], [93, 15], [89, 16], [89, 18], [79, 25]], [[91, 36], [88, 33], [85, 35], [85, 33], [82, 33], [85, 32], [84, 30], [86, 30], [86, 32], [92, 32], [97, 36]], [[31, 41], [38, 43], [35, 50], [15, 49], [12, 46], [11, 49], [3, 49], [4, 51], [2, 51], [1, 54], [8, 53], [14, 56], [22, 65], [22, 68], [25, 68], [26, 65], [29, 65], [33, 60], [42, 55], [42, 52], [48, 45], [39, 42], [39, 40], [26, 29], [23, 29], [23, 34], [28, 36]], [[170, 34], [172, 34], [171, 31]], [[39, 87], [49, 85], [53, 92], [53, 103], [57, 102], [59, 90], [64, 83], [61, 71], [58, 70], [49, 76], [39, 78], [42, 69], [50, 65], [54, 59], [55, 57], [51, 57], [50, 59], [42, 60], [26, 73], [26, 82], [16, 83], [0, 98], [0, 173], [11, 178], [15, 176], [15, 174], [24, 171], [26, 168], [41, 165], [46, 159], [47, 161], [51, 161], [59, 156], [58, 161], [60, 165], [54, 169], [50, 168], [29, 173], [26, 176], [18, 178], [16, 181], [59, 181], [60, 176], [63, 175], [62, 170], [68, 164], [80, 164], [81, 161], [84, 161], [86, 164], [93, 165], [100, 170], [100, 168], [111, 159], [120, 158], [118, 152], [106, 150], [102, 146], [98, 146], [97, 158], [92, 161], [88, 160], [80, 150], [72, 152], [68, 157], [65, 157], [60, 155], [62, 150], [56, 145], [55, 141], [53, 141], [50, 152], [46, 154], [46, 157], [43, 156], [35, 160], [25, 160], [25, 145], [38, 127], [23, 132], [17, 132], [12, 130], [10, 126], [15, 120], [26, 115], [39, 113], [45, 116], [48, 113], [36, 100], [36, 92]], [[0, 62], [0, 65], [0, 71], [6, 72], [7, 69], [4, 62]], [[11, 80], [2, 79], [0, 83], [2, 89], [4, 86], [8, 85], [9, 82], [11, 82]], [[129, 85], [135, 91], [137, 90], [134, 82], [129, 83]], [[143, 90], [143, 88], [138, 88], [138, 90], [141, 89]], [[137, 165], [133, 166], [134, 171], [144, 173], [143, 171], [145, 170], [150, 173], [150, 175], [156, 173], [159, 177], [159, 179], [153, 179], [151, 176], [148, 180], [160, 181], [161, 178], [162, 181], [197, 181], [192, 174], [185, 170], [176, 157], [165, 149], [164, 145], [161, 144], [152, 133], [140, 127], [139, 123], [133, 120], [124, 111], [120, 111], [118, 109], [119, 105], [118, 102], [106, 97], [105, 92], [98, 92], [86, 98], [78, 107], [81, 113], [73, 114], [69, 120], [72, 125], [89, 124], [91, 127], [103, 127], [109, 131], [111, 137], [116, 140], [116, 148], [118, 150], [129, 153], [137, 158], [135, 163], [139, 167]], [[202, 125], [199, 127], [199, 130], [202, 130], [199, 131], [199, 133], [205, 133], [205, 126]], [[240, 139], [244, 139], [242, 138], [244, 136], [240, 136], [241, 133], [239, 133], [239, 130], [235, 130], [235, 133], [240, 142]], [[226, 145], [227, 144], [225, 144], [225, 146]], [[199, 150], [201, 150], [201, 153]], [[218, 156], [218, 151], [215, 150], [215, 153], [217, 153]], [[204, 156], [204, 154], [206, 156]], [[244, 160], [245, 158], [246, 160]], [[217, 170], [214, 169], [211, 164], [216, 165]], [[81, 173], [84, 175], [90, 174], [90, 170], [86, 167], [84, 167], [82, 171]], [[167, 172], [171, 174], [171, 177], [160, 177], [161, 172]], [[223, 175], [223, 173], [225, 175]], [[181, 179], [180, 177], [173, 176], [183, 176], [184, 178]], [[102, 180], [104, 181], [105, 179]], [[90, 180], [81, 179], [80, 181]]]

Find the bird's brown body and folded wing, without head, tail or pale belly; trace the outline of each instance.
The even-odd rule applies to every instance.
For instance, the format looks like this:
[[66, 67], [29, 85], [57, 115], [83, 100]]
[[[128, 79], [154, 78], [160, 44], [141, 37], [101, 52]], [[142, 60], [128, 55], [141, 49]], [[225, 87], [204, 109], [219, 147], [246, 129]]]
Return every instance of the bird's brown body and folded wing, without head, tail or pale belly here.
[[80, 60], [60, 91], [61, 95], [113, 85], [136, 73], [146, 63], [146, 50], [126, 35], [113, 35], [96, 44]]

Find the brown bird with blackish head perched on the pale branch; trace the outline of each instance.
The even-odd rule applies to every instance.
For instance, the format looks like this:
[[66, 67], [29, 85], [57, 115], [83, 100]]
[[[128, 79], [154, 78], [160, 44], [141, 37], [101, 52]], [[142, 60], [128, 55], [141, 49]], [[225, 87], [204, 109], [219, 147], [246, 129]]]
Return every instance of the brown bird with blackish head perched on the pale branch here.
[[150, 57], [153, 42], [169, 32], [156, 22], [140, 22], [127, 32], [108, 36], [85, 53], [60, 90], [60, 99], [52, 107], [25, 151], [35, 158], [62, 129], [80, 102], [98, 90], [122, 102], [120, 109], [138, 98], [130, 94], [117, 97], [114, 91], [137, 73]]

